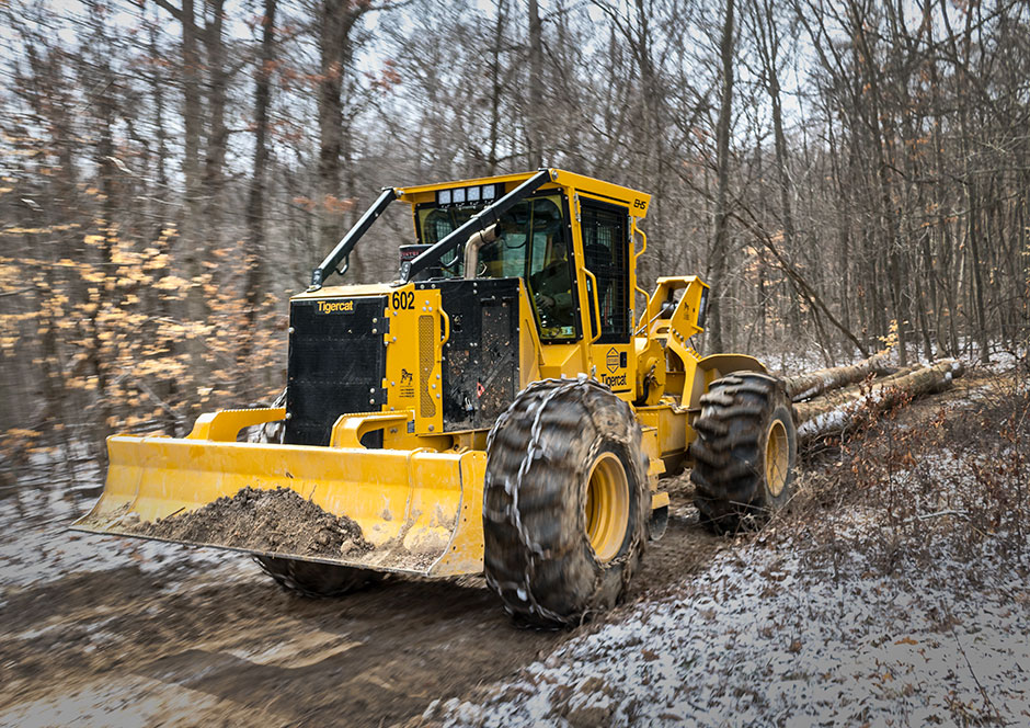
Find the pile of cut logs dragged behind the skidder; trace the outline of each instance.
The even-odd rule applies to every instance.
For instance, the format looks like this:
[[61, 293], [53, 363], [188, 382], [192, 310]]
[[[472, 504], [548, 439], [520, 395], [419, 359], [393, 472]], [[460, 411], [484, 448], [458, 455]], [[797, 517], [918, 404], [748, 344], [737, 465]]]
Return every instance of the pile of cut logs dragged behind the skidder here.
[[798, 437], [804, 441], [839, 434], [860, 413], [889, 410], [902, 401], [947, 389], [962, 374], [962, 364], [954, 360], [899, 371], [878, 355], [850, 366], [790, 377], [786, 385], [794, 403]]

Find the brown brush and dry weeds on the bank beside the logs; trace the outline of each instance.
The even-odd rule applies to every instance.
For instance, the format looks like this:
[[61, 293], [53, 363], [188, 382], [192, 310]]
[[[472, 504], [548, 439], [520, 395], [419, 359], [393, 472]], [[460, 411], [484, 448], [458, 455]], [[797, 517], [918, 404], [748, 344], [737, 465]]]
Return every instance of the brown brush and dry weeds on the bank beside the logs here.
[[780, 531], [803, 532], [834, 572], [858, 550], [884, 575], [984, 562], [1026, 575], [1030, 376], [998, 378], [974, 394], [936, 410], [902, 401], [861, 418], [845, 440], [810, 447], [787, 516], [794, 523]]

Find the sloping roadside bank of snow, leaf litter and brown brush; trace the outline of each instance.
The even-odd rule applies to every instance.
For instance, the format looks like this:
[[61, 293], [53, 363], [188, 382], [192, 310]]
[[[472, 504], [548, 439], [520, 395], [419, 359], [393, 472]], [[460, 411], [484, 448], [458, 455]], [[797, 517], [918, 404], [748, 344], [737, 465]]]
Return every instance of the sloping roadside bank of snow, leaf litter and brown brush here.
[[[623, 607], [512, 680], [436, 702], [424, 718], [1030, 725], [1030, 548], [1004, 519], [996, 533], [974, 522], [996, 512], [984, 473], [1003, 462], [1021, 463], [1016, 481], [1030, 481], [1011, 448], [943, 448], [885, 470], [880, 493], [823, 510], [793, 535], [742, 539], [668, 595]], [[968, 538], [970, 528], [982, 537]]]

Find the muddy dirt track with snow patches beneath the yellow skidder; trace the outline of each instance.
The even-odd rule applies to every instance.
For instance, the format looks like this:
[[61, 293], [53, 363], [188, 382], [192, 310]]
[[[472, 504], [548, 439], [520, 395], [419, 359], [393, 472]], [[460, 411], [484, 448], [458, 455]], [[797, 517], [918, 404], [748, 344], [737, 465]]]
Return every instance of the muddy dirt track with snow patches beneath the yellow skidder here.
[[[668, 532], [628, 602], [705, 568], [726, 543], [697, 524], [686, 479], [671, 485]], [[481, 578], [391, 577], [309, 600], [237, 554], [64, 524], [4, 549], [22, 578], [0, 570], [0, 725], [417, 725], [434, 699], [597, 628], [517, 628]], [[114, 555], [112, 568], [77, 566], [93, 550]]]

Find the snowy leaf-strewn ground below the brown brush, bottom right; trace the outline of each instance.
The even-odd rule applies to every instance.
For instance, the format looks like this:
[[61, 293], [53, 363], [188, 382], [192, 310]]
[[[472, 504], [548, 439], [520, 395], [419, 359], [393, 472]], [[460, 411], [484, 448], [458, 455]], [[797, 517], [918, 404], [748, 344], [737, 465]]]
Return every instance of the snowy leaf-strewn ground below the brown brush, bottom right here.
[[[636, 605], [481, 702], [457, 726], [1030, 724], [1030, 588], [969, 564], [878, 575], [860, 553], [804, 567], [798, 543], [728, 554], [674, 596]], [[746, 561], [746, 562], [745, 562]], [[981, 565], [989, 568], [989, 564]]]

